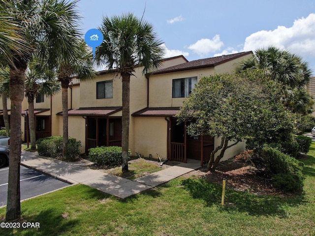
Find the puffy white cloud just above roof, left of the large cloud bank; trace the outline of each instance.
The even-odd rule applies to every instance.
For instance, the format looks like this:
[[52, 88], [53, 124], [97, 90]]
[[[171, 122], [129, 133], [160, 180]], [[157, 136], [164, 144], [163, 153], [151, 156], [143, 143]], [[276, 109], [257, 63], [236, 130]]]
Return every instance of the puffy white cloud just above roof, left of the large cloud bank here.
[[190, 44], [188, 48], [202, 57], [209, 53], [219, 51], [223, 46], [224, 44], [220, 39], [220, 35], [216, 34], [212, 39], [202, 38], [194, 44]]

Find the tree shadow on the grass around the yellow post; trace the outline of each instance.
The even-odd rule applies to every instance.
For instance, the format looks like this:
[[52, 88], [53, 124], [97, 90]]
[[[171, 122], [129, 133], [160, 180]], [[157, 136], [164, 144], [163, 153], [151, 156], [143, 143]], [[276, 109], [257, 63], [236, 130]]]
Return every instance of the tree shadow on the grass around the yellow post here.
[[[222, 187], [210, 183], [206, 179], [188, 178], [182, 181], [185, 189], [196, 199], [205, 201], [207, 207], [221, 203]], [[225, 190], [224, 211], [247, 212], [250, 215], [279, 215], [286, 217], [283, 205], [297, 206], [303, 204], [304, 196], [294, 197], [275, 197], [275, 196], [256, 196], [247, 192], [238, 192], [230, 189]]]

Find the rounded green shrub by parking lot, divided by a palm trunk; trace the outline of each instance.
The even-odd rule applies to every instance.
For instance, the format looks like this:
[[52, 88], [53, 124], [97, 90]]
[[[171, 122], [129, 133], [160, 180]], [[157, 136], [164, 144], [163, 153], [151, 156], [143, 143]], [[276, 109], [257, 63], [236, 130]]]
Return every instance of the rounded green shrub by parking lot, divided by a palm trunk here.
[[[36, 141], [38, 154], [52, 158], [63, 157], [63, 137], [53, 136]], [[75, 160], [80, 156], [81, 141], [69, 138], [66, 146], [66, 156], [68, 160]]]

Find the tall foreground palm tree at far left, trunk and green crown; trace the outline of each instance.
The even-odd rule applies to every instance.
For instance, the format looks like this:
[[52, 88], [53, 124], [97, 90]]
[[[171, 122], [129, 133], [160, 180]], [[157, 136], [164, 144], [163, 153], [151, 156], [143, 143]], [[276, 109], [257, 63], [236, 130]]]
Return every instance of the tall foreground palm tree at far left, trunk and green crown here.
[[[50, 58], [48, 68], [53, 68], [57, 58], [72, 57], [68, 46], [76, 35], [79, 14], [76, 0], [11, 0], [17, 11], [13, 22], [26, 45], [23, 51], [13, 50], [6, 60], [10, 64], [9, 97], [11, 100], [10, 162], [6, 219], [14, 220], [21, 215], [20, 206], [20, 159], [21, 113], [25, 89], [25, 71], [32, 54]], [[25, 20], [21, 21], [21, 17]], [[49, 45], [49, 47], [47, 47]], [[8, 52], [8, 50], [6, 51]], [[13, 63], [9, 63], [12, 58]]]

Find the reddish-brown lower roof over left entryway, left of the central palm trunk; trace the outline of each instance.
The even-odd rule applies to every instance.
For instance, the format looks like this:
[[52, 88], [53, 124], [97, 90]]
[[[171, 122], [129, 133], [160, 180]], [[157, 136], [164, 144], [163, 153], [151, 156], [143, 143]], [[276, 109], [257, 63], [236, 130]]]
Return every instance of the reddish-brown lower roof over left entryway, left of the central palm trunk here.
[[[80, 107], [68, 111], [69, 116], [109, 116], [122, 110], [122, 107]], [[57, 115], [62, 116], [59, 112]]]

